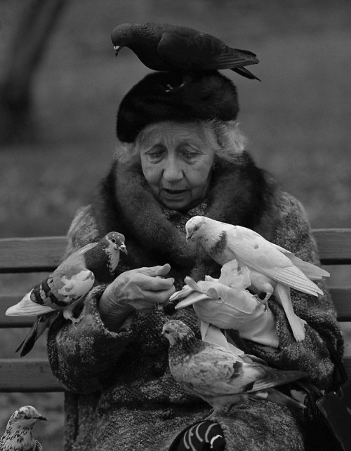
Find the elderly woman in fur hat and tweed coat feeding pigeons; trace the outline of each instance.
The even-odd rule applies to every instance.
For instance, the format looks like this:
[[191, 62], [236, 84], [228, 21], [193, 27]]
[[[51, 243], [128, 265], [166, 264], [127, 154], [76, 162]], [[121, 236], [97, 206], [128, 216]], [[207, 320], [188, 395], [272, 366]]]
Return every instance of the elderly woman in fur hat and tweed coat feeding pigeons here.
[[[190, 217], [241, 224], [318, 262], [303, 207], [244, 150], [232, 82], [216, 71], [182, 82], [180, 74], [154, 73], [127, 93], [110, 173], [69, 229], [67, 253], [115, 230], [126, 236], [128, 256], [121, 256], [114, 281], [88, 294], [77, 325], [60, 317], [49, 331], [51, 367], [67, 387], [65, 450], [166, 450], [179, 431], [208, 414], [210, 407], [173, 379], [161, 335], [163, 325], [177, 318], [200, 337], [192, 307], [175, 311], [168, 299], [185, 276], [199, 281], [220, 272], [204, 251], [186, 245]], [[264, 345], [256, 335], [242, 342], [267, 363], [303, 370], [324, 386], [333, 365], [310, 325], [324, 330], [341, 352], [331, 299], [291, 291], [296, 314], [307, 322], [303, 342], [294, 339], [274, 297], [266, 332], [278, 344]], [[215, 424], [218, 447], [195, 449], [303, 450], [298, 419], [267, 400], [247, 400], [218, 415]], [[204, 445], [208, 433], [198, 432]], [[170, 449], [190, 449], [178, 442]]]

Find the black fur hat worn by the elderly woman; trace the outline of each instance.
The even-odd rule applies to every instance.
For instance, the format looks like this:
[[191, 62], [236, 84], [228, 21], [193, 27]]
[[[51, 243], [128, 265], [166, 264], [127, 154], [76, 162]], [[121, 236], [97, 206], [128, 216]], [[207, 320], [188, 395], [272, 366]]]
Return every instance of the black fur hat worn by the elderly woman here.
[[217, 71], [185, 76], [154, 72], [133, 86], [121, 101], [117, 137], [133, 142], [152, 123], [230, 121], [236, 119], [238, 112], [237, 88]]

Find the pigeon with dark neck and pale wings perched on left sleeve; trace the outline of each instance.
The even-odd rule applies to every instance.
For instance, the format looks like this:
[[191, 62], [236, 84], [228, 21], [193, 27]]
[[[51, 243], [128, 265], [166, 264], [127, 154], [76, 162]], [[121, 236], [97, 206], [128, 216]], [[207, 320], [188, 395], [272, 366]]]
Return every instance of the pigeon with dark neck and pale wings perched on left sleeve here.
[[98, 241], [89, 243], [69, 255], [47, 278], [23, 299], [6, 310], [8, 316], [38, 316], [27, 337], [20, 344], [21, 357], [28, 354], [34, 343], [53, 321], [53, 314], [62, 311], [66, 319], [78, 323], [73, 310], [91, 290], [95, 280], [111, 281], [119, 262], [119, 253], [127, 253], [124, 236], [112, 231]]

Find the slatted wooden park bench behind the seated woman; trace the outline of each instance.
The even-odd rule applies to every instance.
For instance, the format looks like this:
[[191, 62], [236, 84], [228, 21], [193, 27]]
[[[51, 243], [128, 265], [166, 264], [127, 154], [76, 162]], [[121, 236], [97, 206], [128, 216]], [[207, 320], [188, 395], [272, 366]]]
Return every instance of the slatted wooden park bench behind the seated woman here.
[[[322, 264], [328, 265], [327, 269], [330, 269], [329, 265], [351, 264], [351, 229], [315, 229], [314, 236]], [[50, 272], [62, 261], [65, 246], [64, 236], [0, 239], [0, 274]], [[351, 281], [347, 282], [350, 287], [329, 287], [338, 311], [338, 321], [343, 322], [351, 321]], [[13, 290], [10, 295], [0, 294], [0, 328], [29, 327], [33, 318], [5, 316], [6, 309], [25, 294]], [[15, 349], [18, 344], [11, 343], [11, 346]], [[351, 356], [344, 360], [351, 376]], [[64, 388], [53, 377], [46, 358], [30, 358], [30, 354], [28, 358], [19, 358], [14, 354], [13, 358], [0, 359], [0, 391], [64, 391]]]

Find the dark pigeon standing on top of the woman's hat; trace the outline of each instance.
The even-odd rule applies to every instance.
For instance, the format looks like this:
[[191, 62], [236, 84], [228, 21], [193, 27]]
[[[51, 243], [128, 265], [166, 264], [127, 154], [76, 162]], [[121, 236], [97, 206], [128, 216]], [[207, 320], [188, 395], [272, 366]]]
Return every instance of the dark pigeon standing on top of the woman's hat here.
[[196, 29], [161, 23], [122, 24], [112, 31], [116, 56], [130, 48], [149, 69], [196, 72], [231, 69], [248, 79], [259, 80], [244, 66], [258, 63], [255, 53], [238, 50]]

